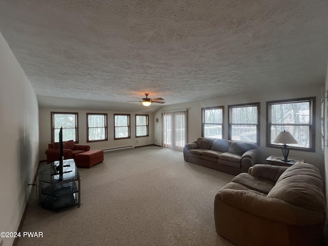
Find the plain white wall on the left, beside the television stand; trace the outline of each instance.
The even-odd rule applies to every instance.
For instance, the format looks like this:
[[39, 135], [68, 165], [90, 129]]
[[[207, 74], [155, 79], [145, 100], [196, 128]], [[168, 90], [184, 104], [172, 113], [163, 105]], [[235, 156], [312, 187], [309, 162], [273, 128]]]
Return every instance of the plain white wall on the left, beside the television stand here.
[[[0, 33], [0, 232], [15, 232], [38, 165], [36, 94]], [[12, 245], [14, 238], [0, 238]]]

